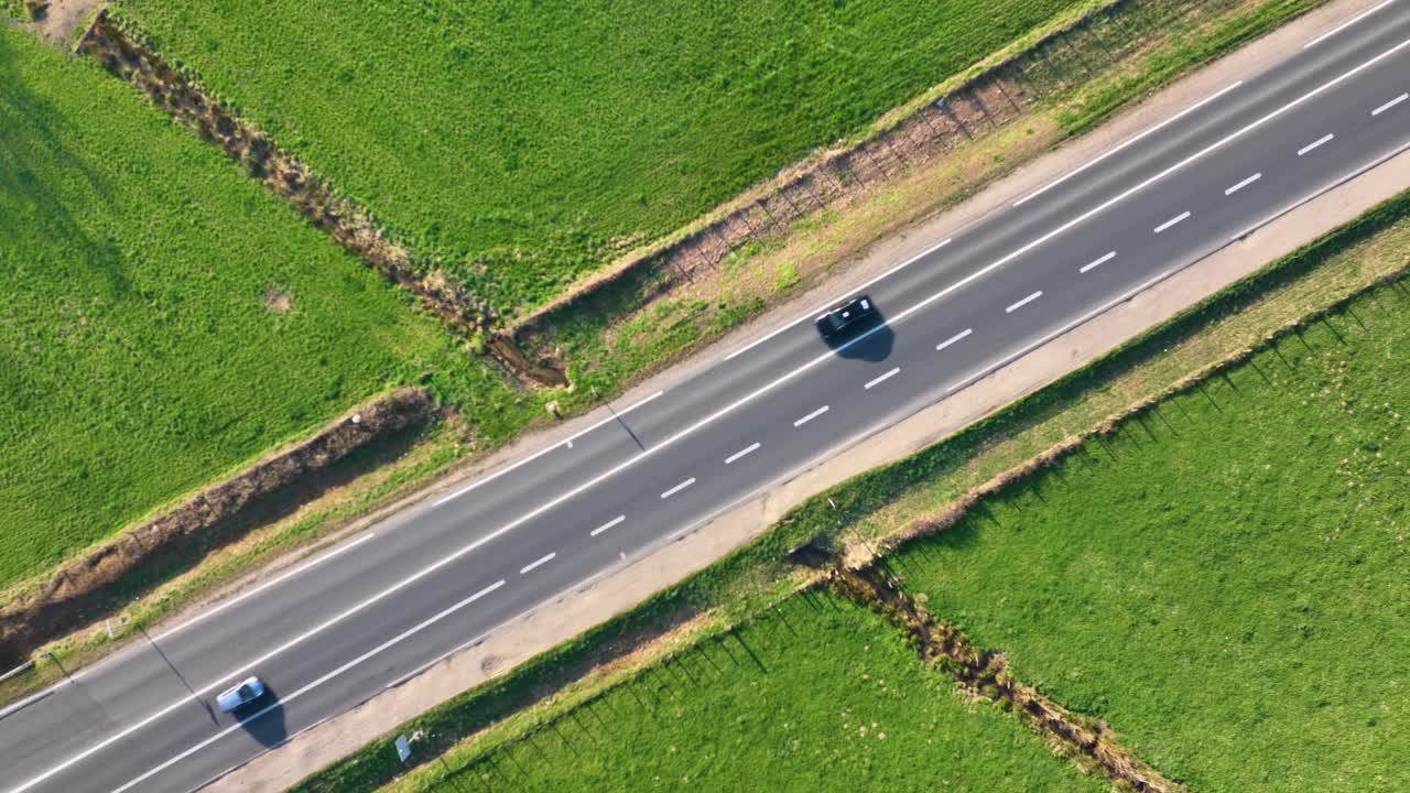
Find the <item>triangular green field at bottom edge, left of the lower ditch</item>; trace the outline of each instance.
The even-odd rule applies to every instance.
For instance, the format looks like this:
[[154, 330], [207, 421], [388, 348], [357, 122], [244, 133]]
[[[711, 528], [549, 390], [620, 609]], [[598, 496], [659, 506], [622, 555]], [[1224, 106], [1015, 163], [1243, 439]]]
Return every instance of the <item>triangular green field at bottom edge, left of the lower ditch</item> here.
[[489, 734], [389, 789], [477, 786], [1110, 789], [1017, 717], [964, 701], [895, 626], [826, 590], [795, 595], [536, 730]]

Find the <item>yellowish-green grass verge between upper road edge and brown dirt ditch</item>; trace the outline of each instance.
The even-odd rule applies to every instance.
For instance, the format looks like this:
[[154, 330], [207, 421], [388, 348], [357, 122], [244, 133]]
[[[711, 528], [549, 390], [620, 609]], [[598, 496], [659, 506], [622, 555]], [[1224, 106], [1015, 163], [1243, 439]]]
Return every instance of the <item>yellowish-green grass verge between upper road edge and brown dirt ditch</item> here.
[[[904, 234], [956, 206], [1056, 148], [1084, 124], [1129, 107], [1321, 1], [1115, 6], [1090, 25], [1063, 34], [1062, 44], [1049, 47], [1042, 58], [1017, 54], [1035, 63], [1017, 80], [1026, 80], [1029, 89], [1018, 120], [997, 128], [980, 124], [971, 130], [974, 140], [960, 143], [953, 152], [902, 168], [845, 205], [809, 216], [787, 236], [749, 243], [664, 293], [654, 281], [666, 274], [625, 279], [596, 296], [591, 310], [556, 316], [551, 329], [525, 343], [560, 350], [575, 382], [615, 392], [815, 286], [877, 240]], [[1172, 13], [1172, 7], [1184, 10]], [[1114, 41], [1120, 35], [1129, 41]], [[1124, 52], [1120, 58], [1112, 55], [1118, 51]]]

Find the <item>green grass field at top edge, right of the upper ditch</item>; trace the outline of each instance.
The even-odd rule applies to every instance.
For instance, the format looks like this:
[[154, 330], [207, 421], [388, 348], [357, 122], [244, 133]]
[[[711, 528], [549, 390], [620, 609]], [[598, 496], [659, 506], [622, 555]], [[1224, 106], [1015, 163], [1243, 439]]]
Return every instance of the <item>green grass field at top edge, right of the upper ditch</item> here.
[[1081, 0], [120, 0], [513, 315]]

